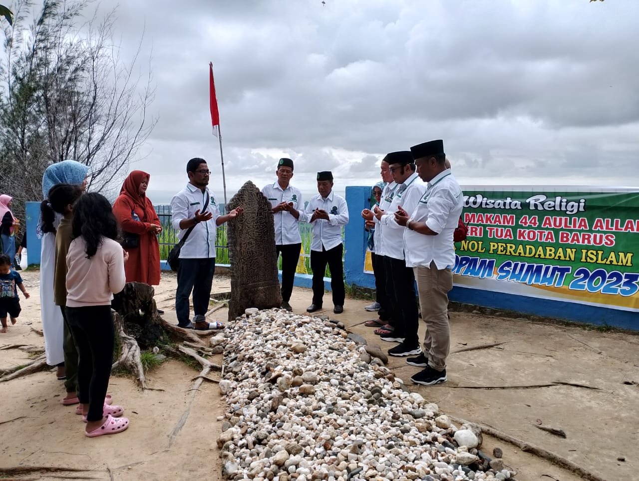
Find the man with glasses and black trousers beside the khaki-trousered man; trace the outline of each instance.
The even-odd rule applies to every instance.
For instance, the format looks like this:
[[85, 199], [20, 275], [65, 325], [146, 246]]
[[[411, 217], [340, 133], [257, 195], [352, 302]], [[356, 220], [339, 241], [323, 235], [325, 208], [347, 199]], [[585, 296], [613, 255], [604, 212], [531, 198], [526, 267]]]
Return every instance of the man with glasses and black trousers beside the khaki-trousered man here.
[[[400, 207], [411, 210], [417, 206], [426, 191], [426, 185], [415, 173], [413, 155], [408, 150], [391, 152], [384, 160], [389, 162], [389, 170], [397, 188], [388, 210], [376, 209], [374, 216], [383, 226], [383, 252], [389, 272], [389, 294], [394, 297], [395, 311], [394, 331], [381, 335], [380, 338], [388, 342], [399, 342], [399, 345], [389, 349], [390, 356], [410, 356], [422, 352], [417, 335], [417, 294], [413, 269], [406, 267], [404, 261], [404, 227], [397, 224], [394, 213]], [[365, 219], [372, 218], [369, 212], [362, 212]]]

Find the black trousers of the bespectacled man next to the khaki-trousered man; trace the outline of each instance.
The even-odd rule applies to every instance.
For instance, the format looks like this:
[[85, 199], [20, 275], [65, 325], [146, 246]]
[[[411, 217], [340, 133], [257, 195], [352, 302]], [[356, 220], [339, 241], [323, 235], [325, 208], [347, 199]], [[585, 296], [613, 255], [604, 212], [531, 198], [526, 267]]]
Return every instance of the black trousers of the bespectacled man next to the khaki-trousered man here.
[[[402, 259], [385, 257], [389, 272], [389, 293], [394, 299], [395, 333], [405, 338], [406, 344], [419, 345], [419, 313], [417, 311], [417, 296], [415, 294], [415, 275], [412, 267], [406, 267]], [[392, 290], [391, 290], [392, 289]]]

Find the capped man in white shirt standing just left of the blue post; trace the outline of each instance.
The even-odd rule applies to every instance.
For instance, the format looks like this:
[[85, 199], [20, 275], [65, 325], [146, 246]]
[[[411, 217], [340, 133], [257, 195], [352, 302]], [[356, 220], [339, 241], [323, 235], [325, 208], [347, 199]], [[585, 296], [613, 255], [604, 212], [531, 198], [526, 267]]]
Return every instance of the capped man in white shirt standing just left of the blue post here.
[[346, 200], [333, 192], [333, 174], [318, 172], [318, 192], [309, 201], [304, 215], [313, 225], [311, 244], [311, 269], [313, 271], [313, 301], [308, 312], [322, 308], [324, 297], [324, 273], [330, 269], [330, 288], [333, 292], [334, 313], [344, 311], [344, 266], [342, 255], [342, 226], [348, 224]]

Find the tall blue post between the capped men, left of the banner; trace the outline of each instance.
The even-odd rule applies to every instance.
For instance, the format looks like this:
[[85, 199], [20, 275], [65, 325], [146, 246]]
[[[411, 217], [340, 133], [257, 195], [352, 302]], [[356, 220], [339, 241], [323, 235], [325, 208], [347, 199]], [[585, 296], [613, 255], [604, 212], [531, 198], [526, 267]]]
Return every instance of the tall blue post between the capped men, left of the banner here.
[[373, 274], [364, 272], [368, 235], [361, 216], [362, 210], [369, 207], [370, 197], [371, 187], [346, 187], [349, 220], [344, 228], [344, 281], [348, 285], [374, 288]]

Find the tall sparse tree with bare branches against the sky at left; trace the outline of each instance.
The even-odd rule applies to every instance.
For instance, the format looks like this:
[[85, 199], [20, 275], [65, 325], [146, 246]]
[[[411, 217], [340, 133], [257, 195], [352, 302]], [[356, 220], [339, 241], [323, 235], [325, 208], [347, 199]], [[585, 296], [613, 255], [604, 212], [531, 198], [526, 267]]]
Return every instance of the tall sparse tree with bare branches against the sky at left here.
[[65, 159], [89, 166], [91, 191], [111, 193], [157, 123], [147, 116], [151, 69], [135, 75], [144, 33], [124, 61], [113, 42], [116, 12], [84, 20], [91, 3], [44, 0], [35, 11], [32, 0], [19, 0], [4, 30], [0, 191], [19, 205], [39, 200], [43, 171]]

